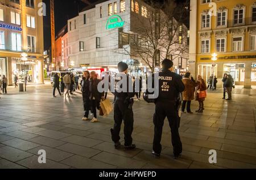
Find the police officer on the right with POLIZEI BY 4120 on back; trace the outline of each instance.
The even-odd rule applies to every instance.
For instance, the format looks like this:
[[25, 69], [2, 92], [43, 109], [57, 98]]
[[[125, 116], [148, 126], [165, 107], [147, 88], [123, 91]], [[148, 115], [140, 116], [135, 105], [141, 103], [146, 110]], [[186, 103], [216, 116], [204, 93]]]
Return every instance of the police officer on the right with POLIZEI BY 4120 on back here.
[[162, 62], [162, 72], [159, 72], [159, 96], [155, 100], [154, 125], [155, 135], [152, 154], [160, 157], [164, 119], [167, 117], [171, 127], [172, 146], [174, 147], [175, 158], [182, 152], [182, 144], [179, 135], [179, 114], [177, 111], [177, 99], [184, 91], [182, 77], [174, 72], [174, 63], [169, 59]]

